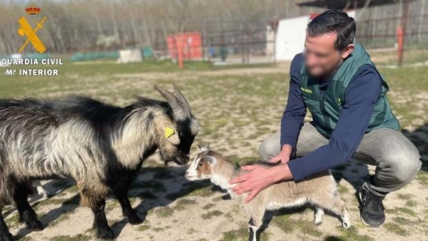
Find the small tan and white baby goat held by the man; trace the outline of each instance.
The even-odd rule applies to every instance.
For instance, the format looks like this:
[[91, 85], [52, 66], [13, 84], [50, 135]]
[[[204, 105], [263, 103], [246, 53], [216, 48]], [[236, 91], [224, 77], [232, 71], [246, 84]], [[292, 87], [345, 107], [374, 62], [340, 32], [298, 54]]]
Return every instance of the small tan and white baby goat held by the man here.
[[[260, 163], [263, 164], [263, 163]], [[270, 164], [271, 165], [271, 164]], [[301, 182], [279, 182], [258, 193], [251, 202], [244, 200], [248, 193], [235, 195], [231, 189], [234, 185], [229, 180], [245, 173], [226, 160], [222, 155], [211, 151], [208, 146], [200, 148], [199, 153], [186, 171], [188, 180], [210, 179], [213, 184], [226, 189], [233, 199], [244, 207], [250, 216], [249, 240], [257, 240], [257, 230], [262, 225], [266, 210], [277, 210], [284, 207], [303, 206], [310, 204], [315, 207], [315, 224], [321, 224], [324, 210], [341, 218], [342, 226], [348, 229], [351, 226], [347, 209], [340, 200], [337, 185], [329, 172], [313, 175]]]

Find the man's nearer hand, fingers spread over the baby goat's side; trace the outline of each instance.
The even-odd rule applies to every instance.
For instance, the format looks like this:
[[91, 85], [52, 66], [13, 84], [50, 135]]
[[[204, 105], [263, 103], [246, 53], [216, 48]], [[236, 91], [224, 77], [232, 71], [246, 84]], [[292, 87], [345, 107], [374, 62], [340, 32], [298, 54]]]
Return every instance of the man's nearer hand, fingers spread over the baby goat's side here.
[[289, 166], [286, 164], [271, 167], [250, 165], [242, 166], [241, 168], [249, 173], [235, 177], [229, 183], [237, 184], [232, 189], [237, 195], [251, 191], [250, 195], [246, 197], [245, 202], [250, 202], [257, 193], [260, 193], [260, 191], [275, 182], [292, 178]]

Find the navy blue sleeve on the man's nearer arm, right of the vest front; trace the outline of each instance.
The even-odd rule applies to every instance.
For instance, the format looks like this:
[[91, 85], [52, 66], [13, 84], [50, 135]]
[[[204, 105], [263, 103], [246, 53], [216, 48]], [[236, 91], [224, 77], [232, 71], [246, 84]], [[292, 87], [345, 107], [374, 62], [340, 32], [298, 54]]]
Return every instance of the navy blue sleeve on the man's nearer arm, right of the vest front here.
[[289, 162], [295, 181], [348, 160], [369, 126], [373, 108], [382, 94], [381, 79], [373, 66], [363, 66], [347, 88], [346, 99], [329, 143]]

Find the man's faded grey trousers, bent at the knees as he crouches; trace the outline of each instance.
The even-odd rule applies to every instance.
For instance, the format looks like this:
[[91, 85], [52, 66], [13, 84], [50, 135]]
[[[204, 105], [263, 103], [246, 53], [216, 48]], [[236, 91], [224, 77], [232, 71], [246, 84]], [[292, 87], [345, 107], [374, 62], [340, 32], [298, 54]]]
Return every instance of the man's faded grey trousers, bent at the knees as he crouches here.
[[[312, 124], [304, 123], [298, 138], [296, 156], [307, 155], [328, 143], [329, 139], [318, 133]], [[259, 155], [262, 160], [267, 161], [280, 153], [280, 148], [278, 132], [262, 142]], [[422, 164], [416, 146], [402, 133], [390, 128], [379, 128], [365, 134], [353, 158], [376, 166], [375, 175], [362, 184], [362, 189], [380, 197], [411, 182]]]

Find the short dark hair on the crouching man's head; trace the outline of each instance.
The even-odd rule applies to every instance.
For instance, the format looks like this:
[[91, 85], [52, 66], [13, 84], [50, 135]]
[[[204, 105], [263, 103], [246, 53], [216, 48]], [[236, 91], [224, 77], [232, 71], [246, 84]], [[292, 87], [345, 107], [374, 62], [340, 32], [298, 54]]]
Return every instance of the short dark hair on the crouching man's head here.
[[356, 21], [340, 10], [327, 10], [313, 19], [307, 28], [311, 37], [335, 32], [337, 38], [334, 42], [336, 50], [344, 50], [353, 43], [356, 36]]

